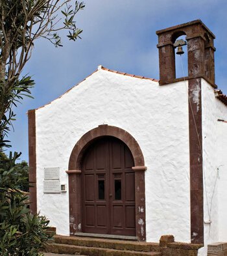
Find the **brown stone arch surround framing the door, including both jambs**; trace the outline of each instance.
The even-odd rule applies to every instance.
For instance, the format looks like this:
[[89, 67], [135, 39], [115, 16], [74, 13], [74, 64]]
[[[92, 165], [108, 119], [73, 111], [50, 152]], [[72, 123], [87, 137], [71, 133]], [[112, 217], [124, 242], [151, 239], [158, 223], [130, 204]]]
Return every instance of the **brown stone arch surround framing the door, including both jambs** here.
[[99, 137], [112, 136], [121, 139], [130, 149], [134, 158], [135, 166], [135, 195], [136, 195], [136, 236], [138, 240], [146, 240], [146, 220], [145, 220], [145, 161], [143, 153], [136, 139], [125, 130], [103, 124], [82, 135], [77, 141], [69, 158], [69, 169], [66, 173], [69, 175], [69, 229], [70, 235], [82, 231], [81, 223], [81, 188], [80, 173], [82, 156], [85, 150], [93, 141]]

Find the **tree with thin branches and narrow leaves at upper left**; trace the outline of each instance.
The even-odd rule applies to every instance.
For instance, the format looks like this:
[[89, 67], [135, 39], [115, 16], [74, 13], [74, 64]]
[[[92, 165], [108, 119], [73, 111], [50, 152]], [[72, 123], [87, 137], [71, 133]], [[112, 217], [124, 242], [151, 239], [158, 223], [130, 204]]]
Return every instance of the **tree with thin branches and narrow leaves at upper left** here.
[[[69, 40], [82, 33], [75, 16], [84, 3], [71, 0], [0, 0], [0, 149], [7, 147], [8, 134], [15, 114], [12, 106], [30, 96], [34, 81], [30, 76], [20, 78], [31, 57], [38, 38], [62, 46], [59, 31], [67, 30]], [[63, 22], [62, 22], [63, 21]]]

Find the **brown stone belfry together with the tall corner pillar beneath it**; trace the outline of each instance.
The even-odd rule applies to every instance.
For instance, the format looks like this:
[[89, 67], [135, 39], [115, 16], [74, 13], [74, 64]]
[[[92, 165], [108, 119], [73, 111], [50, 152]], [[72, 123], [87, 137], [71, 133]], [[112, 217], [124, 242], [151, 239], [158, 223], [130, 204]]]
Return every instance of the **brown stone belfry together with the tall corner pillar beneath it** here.
[[[189, 160], [190, 160], [190, 207], [191, 242], [204, 244], [204, 189], [202, 162], [202, 79], [215, 85], [213, 40], [215, 35], [202, 23], [195, 20], [156, 31], [160, 64], [160, 85], [177, 81], [188, 85], [189, 98]], [[188, 76], [176, 78], [176, 40], [185, 35], [187, 42]], [[180, 85], [179, 85], [180, 86]]]

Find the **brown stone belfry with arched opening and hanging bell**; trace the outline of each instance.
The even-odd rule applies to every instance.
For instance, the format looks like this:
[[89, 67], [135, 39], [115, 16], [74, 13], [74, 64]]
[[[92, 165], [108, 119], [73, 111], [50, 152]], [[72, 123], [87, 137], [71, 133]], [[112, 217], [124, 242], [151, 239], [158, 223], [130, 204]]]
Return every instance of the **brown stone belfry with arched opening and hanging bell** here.
[[174, 43], [185, 35], [188, 55], [188, 77], [204, 78], [215, 86], [215, 64], [213, 40], [215, 35], [202, 23], [195, 20], [156, 31], [158, 35], [160, 85], [179, 81], [176, 79]]

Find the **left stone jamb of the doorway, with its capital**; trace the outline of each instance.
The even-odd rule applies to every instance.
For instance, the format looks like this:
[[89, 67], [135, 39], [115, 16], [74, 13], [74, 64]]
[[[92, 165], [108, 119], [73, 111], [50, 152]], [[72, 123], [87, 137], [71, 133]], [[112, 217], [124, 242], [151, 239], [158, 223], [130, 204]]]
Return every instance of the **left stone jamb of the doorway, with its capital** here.
[[69, 232], [81, 232], [80, 170], [66, 171], [69, 175]]

